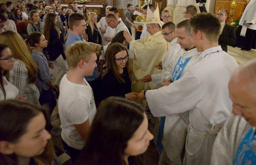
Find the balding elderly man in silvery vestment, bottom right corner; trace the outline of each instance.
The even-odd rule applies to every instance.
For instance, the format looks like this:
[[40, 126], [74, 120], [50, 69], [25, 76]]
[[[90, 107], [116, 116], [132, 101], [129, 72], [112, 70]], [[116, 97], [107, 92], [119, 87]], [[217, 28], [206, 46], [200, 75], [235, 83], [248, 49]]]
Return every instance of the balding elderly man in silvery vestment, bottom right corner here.
[[256, 60], [237, 70], [229, 82], [233, 114], [218, 133], [212, 165], [256, 164]]

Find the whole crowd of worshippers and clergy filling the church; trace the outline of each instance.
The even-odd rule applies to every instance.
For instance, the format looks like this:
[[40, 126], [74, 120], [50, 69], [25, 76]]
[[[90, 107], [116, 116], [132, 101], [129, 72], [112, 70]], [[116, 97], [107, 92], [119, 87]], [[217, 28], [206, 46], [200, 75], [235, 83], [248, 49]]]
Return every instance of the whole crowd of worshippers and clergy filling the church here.
[[[152, 139], [161, 165], [255, 164], [256, 60], [239, 68], [227, 48], [237, 33], [255, 40], [256, 0], [237, 33], [226, 9], [196, 2], [202, 13], [188, 5], [176, 25], [147, 4], [138, 27], [132, 4], [123, 19], [107, 6], [99, 22], [76, 1], [0, 4], [0, 164], [59, 165], [60, 135], [77, 165], [140, 164]], [[15, 23], [27, 20], [24, 40]], [[242, 50], [255, 48], [240, 36]], [[56, 98], [61, 128], [51, 123]]]

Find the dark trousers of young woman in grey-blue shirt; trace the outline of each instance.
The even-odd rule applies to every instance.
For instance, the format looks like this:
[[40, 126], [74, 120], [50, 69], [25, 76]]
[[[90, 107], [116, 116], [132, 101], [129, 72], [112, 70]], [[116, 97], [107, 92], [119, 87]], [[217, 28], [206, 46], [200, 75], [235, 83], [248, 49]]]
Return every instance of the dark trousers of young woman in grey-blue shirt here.
[[[53, 90], [49, 92], [48, 90], [42, 89], [42, 92], [40, 93], [38, 101], [41, 104], [41, 106], [46, 106], [46, 108], [48, 108], [50, 110], [49, 123], [51, 123], [51, 115], [53, 113], [54, 108], [57, 105]], [[53, 127], [50, 124], [49, 131], [51, 131], [52, 129], [53, 129]]]

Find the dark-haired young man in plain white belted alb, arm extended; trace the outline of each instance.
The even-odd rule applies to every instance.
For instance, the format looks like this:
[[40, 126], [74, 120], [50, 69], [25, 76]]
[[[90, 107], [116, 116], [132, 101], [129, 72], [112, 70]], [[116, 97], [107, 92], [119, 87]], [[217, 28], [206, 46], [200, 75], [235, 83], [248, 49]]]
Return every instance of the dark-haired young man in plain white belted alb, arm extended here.
[[231, 115], [228, 82], [238, 64], [218, 46], [221, 27], [218, 18], [210, 13], [200, 13], [190, 19], [190, 26], [193, 44], [198, 52], [202, 52], [202, 60], [170, 85], [142, 91], [138, 97], [147, 99], [154, 116], [189, 110], [190, 125], [183, 163], [205, 165], [210, 164], [216, 137], [207, 128], [223, 126]]

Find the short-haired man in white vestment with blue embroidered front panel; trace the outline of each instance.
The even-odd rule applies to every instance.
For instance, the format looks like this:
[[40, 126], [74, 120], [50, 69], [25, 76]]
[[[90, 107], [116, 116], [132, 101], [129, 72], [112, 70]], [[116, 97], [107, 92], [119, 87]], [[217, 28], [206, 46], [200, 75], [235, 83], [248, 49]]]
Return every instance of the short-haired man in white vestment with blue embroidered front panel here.
[[[180, 21], [176, 25], [175, 33], [178, 38], [177, 42], [182, 49], [172, 55], [165, 73], [166, 79], [162, 83], [163, 86], [177, 81], [192, 66], [202, 60], [201, 52], [197, 52], [192, 42], [189, 19]], [[182, 157], [184, 155], [182, 151], [186, 141], [188, 126], [189, 111], [161, 117], [157, 139], [159, 152], [162, 150], [159, 160], [160, 164], [182, 164], [182, 159], [184, 158]]]

